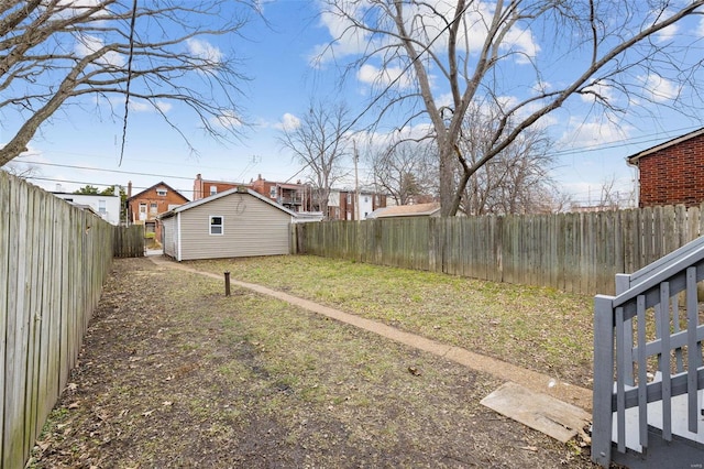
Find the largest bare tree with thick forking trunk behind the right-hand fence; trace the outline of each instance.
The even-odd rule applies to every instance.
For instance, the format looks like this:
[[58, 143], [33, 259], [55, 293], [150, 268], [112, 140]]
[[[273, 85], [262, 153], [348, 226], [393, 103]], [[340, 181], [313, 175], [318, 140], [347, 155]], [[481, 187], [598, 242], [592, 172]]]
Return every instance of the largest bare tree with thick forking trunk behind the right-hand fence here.
[[[324, 3], [326, 22], [336, 24], [337, 36], [319, 59], [340, 61], [355, 51], [349, 69], [377, 72], [370, 105], [381, 107], [377, 122], [392, 112], [404, 113], [403, 126], [430, 122], [443, 216], [458, 211], [476, 171], [571, 98], [592, 99], [593, 110], [607, 114], [644, 109], [644, 102], [692, 107], [691, 98], [698, 99], [695, 72], [702, 63], [693, 57], [697, 54], [685, 54], [698, 36], [669, 33], [686, 17], [701, 14], [704, 0]], [[537, 44], [537, 37], [546, 41]], [[550, 81], [558, 72], [559, 80]], [[676, 89], [667, 86], [674, 83], [670, 79]], [[695, 96], [685, 99], [684, 85]], [[472, 160], [459, 143], [468, 110], [477, 105], [496, 107], [501, 116], [490, 148]]]

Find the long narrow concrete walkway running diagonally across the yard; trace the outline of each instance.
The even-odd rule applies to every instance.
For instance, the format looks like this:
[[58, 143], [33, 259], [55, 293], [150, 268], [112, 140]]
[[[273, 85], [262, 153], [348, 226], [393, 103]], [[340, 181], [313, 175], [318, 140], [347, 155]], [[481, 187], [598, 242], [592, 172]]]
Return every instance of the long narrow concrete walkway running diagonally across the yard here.
[[[222, 275], [198, 271], [196, 269], [170, 261], [164, 257], [150, 257], [150, 259], [155, 264], [162, 268], [177, 269], [223, 281]], [[552, 397], [559, 399], [560, 401], [581, 407], [586, 412], [592, 412], [591, 390], [560, 382], [547, 374], [516, 367], [512, 363], [496, 360], [491, 357], [474, 353], [460, 347], [448, 346], [446, 343], [441, 343], [436, 340], [418, 336], [416, 334], [405, 332], [383, 323], [365, 319], [363, 317], [323, 306], [308, 299], [299, 298], [287, 293], [267, 288], [262, 285], [240, 282], [238, 280], [231, 280], [230, 283], [242, 288], [249, 288], [256, 293], [290, 303], [292, 305], [327, 316], [341, 323], [359, 327], [360, 329], [369, 330], [406, 346], [433, 353], [438, 357], [447, 358], [448, 360], [463, 364], [472, 370], [492, 374], [504, 381], [512, 381], [535, 392], [548, 394]]]

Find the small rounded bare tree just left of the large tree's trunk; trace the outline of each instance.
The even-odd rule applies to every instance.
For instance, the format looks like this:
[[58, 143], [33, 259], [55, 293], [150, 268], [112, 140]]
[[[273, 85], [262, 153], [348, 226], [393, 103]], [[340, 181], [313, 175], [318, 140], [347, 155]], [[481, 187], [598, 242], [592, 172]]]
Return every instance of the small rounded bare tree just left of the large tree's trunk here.
[[396, 205], [431, 197], [437, 188], [437, 172], [428, 142], [405, 141], [383, 149], [372, 150], [367, 160], [374, 172], [377, 187], [386, 190]]

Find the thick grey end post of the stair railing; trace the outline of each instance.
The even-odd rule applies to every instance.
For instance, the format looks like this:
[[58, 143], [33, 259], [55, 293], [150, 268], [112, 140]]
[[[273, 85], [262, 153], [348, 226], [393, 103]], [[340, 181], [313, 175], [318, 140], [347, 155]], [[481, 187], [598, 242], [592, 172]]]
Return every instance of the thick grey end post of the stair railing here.
[[594, 393], [592, 461], [608, 467], [612, 460], [612, 395], [614, 389], [613, 297], [594, 297]]

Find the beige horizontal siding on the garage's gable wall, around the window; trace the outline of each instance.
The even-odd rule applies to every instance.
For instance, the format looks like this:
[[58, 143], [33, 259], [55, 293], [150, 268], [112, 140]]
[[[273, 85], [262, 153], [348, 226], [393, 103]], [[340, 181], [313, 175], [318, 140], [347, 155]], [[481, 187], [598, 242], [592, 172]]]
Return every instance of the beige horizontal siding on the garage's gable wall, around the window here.
[[[250, 194], [231, 194], [180, 216], [183, 261], [290, 252], [290, 215]], [[223, 234], [210, 234], [210, 216], [223, 217]]]

